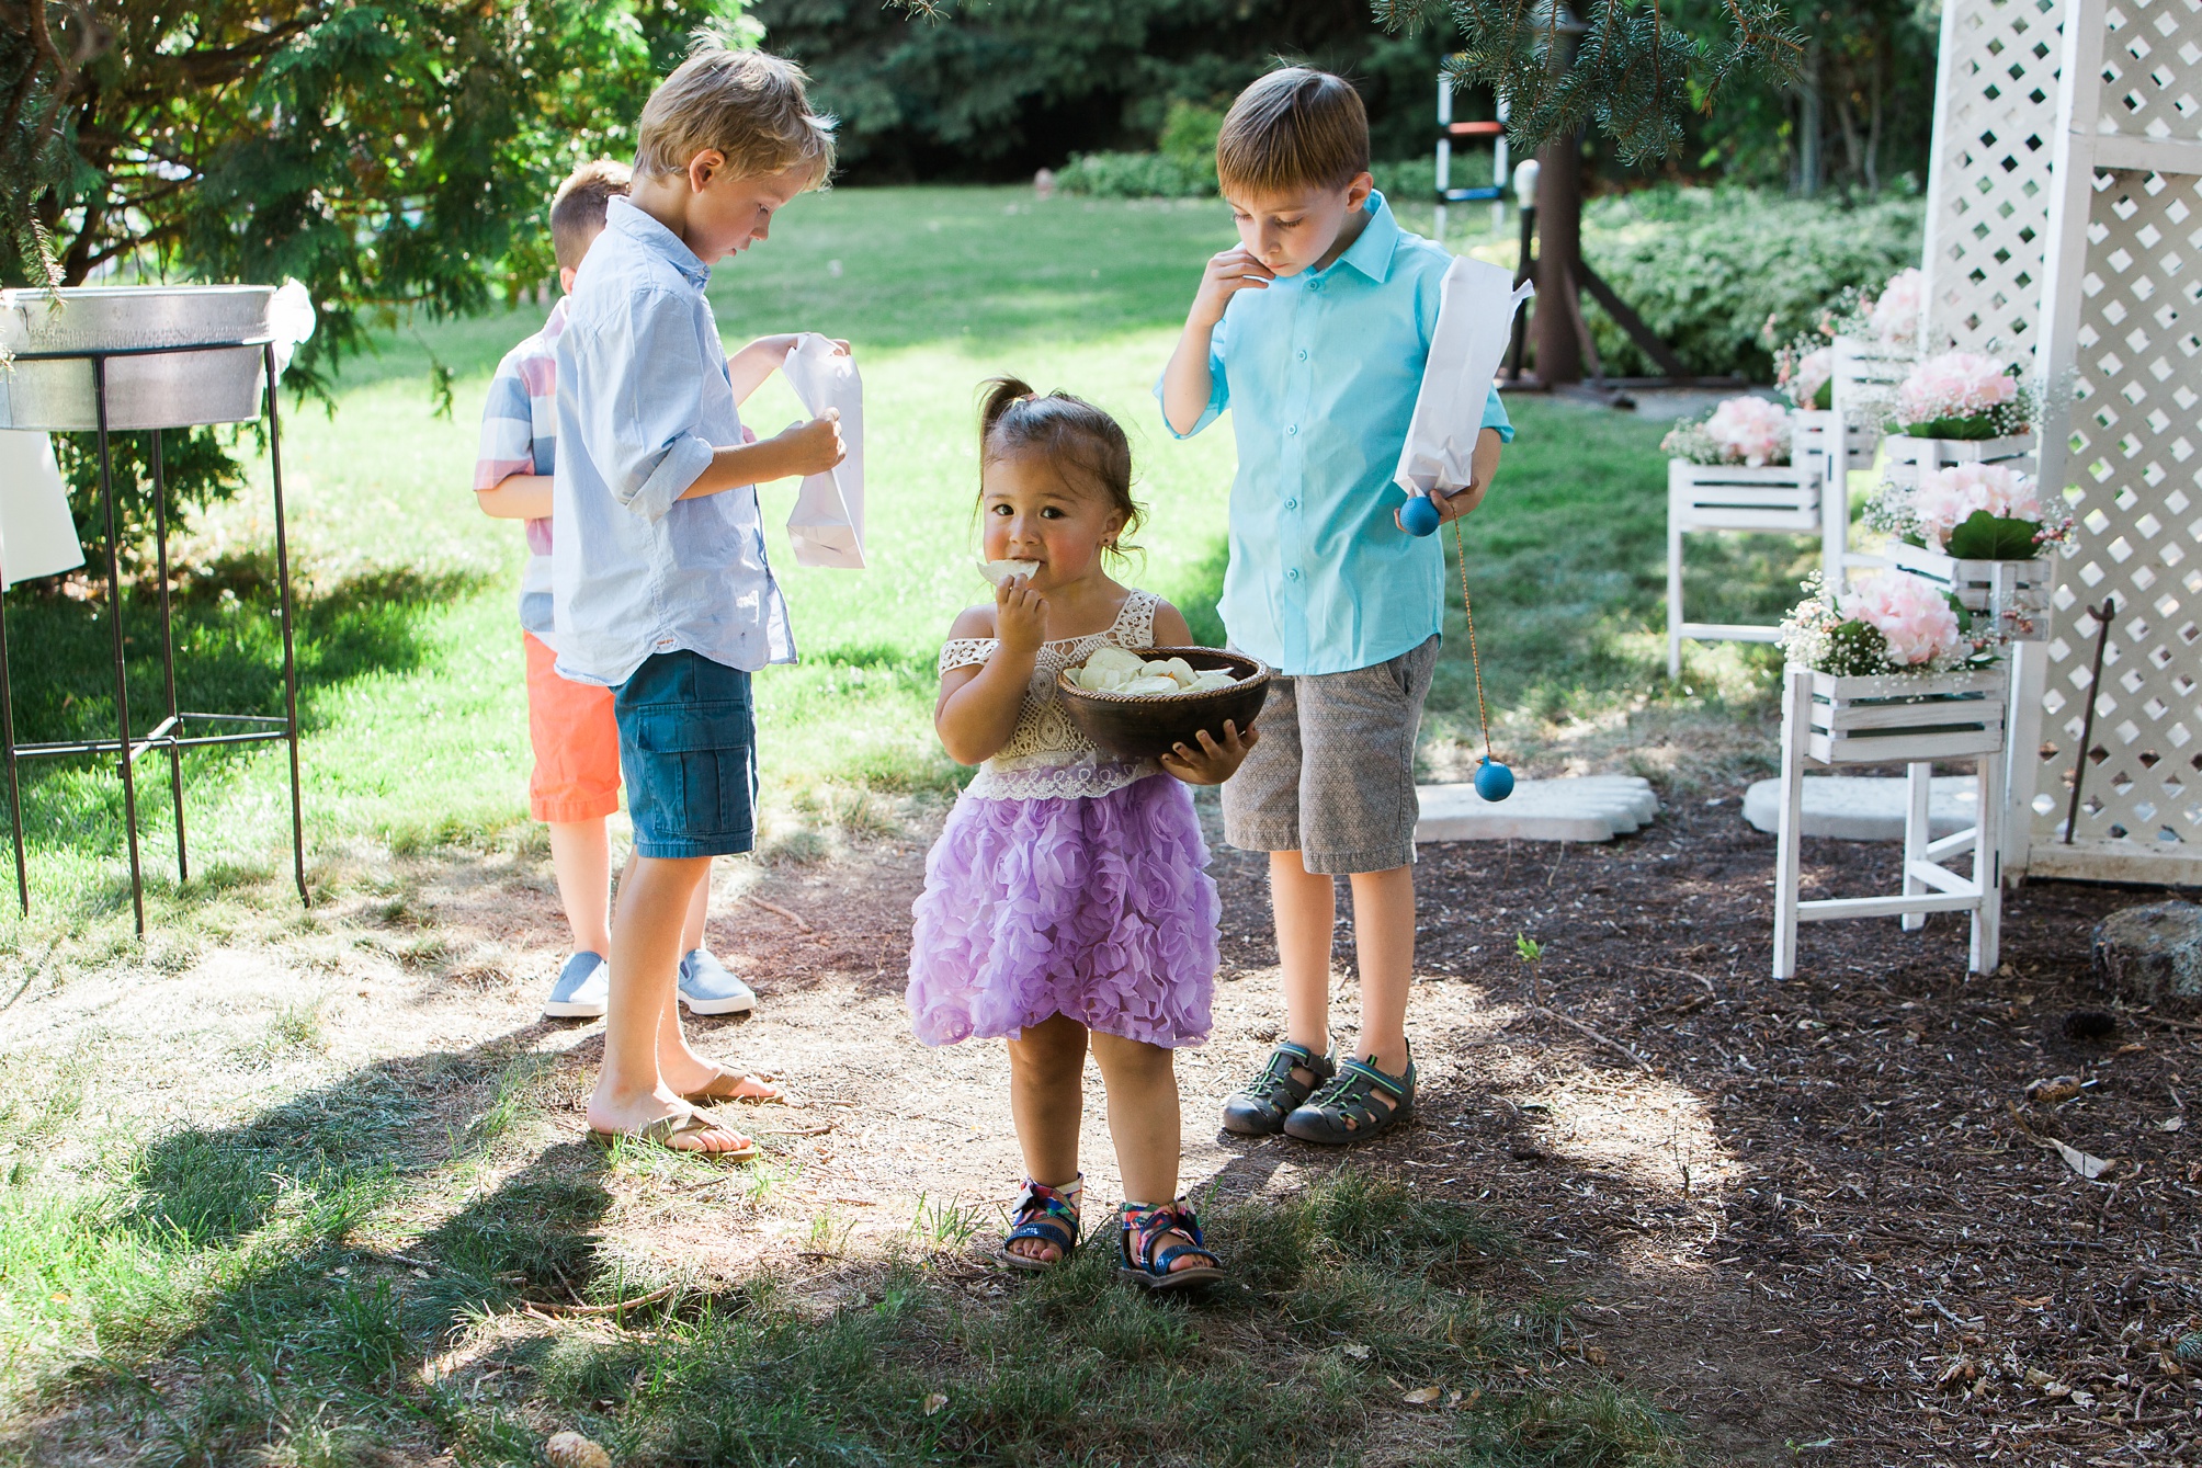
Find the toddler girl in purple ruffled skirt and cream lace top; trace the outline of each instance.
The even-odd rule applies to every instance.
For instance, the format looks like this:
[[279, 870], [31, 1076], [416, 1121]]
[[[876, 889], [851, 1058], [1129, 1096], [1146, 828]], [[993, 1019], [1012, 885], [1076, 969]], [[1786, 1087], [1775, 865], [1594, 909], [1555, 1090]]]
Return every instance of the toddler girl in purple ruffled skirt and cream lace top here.
[[940, 651], [934, 724], [980, 766], [925, 861], [909, 946], [909, 1012], [927, 1045], [1009, 1041], [1009, 1100], [1026, 1182], [998, 1259], [1046, 1270], [1079, 1241], [1086, 1048], [1108, 1085], [1125, 1204], [1121, 1272], [1152, 1290], [1222, 1277], [1178, 1195], [1171, 1052], [1209, 1037], [1216, 883], [1187, 784], [1222, 784], [1255, 742], [1112, 759], [1055, 687], [1099, 647], [1193, 640], [1160, 596], [1108, 563], [1138, 528], [1132, 447], [1116, 420], [1061, 392], [989, 383], [980, 412], [980, 526], [989, 563], [1024, 561], [969, 607]]

